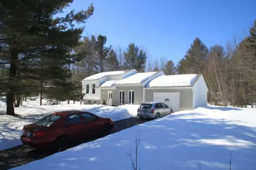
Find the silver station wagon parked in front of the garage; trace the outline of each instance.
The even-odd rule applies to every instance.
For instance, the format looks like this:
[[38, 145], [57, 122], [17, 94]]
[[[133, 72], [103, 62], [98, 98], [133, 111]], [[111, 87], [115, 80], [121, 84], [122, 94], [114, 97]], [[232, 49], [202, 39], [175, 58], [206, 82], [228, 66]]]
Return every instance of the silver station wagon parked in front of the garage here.
[[143, 118], [160, 118], [173, 113], [171, 107], [161, 102], [145, 102], [138, 108], [137, 116]]

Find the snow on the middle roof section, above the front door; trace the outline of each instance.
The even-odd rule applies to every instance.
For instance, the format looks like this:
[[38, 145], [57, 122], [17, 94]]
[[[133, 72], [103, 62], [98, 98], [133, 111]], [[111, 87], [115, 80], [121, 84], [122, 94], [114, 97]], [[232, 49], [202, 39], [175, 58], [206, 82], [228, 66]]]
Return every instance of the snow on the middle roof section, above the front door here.
[[119, 80], [115, 83], [115, 85], [121, 84], [140, 84], [143, 81], [151, 78], [157, 72], [147, 72], [147, 73], [136, 73], [125, 79]]

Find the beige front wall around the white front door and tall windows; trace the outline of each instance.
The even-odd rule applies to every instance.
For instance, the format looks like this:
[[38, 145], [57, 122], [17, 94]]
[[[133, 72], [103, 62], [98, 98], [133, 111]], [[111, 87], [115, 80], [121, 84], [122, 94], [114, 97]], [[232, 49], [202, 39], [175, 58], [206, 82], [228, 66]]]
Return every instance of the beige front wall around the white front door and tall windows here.
[[[134, 91], [134, 104], [141, 104], [142, 103], [142, 92], [143, 87], [142, 86], [117, 86], [116, 89], [112, 90], [112, 105], [118, 106], [119, 104], [119, 91], [125, 91], [125, 97], [124, 97], [124, 104], [128, 104], [129, 100], [129, 90]], [[107, 91], [111, 90], [101, 90], [101, 97], [102, 100], [105, 99], [107, 102]]]

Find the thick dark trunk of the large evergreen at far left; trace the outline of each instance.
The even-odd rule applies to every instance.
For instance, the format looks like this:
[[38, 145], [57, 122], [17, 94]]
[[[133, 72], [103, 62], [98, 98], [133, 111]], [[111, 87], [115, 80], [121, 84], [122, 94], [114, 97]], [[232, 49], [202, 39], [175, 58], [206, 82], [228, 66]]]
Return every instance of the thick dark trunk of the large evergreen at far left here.
[[13, 87], [12, 81], [14, 81], [13, 78], [16, 77], [17, 59], [18, 59], [17, 48], [12, 48], [11, 49], [10, 77], [9, 77], [11, 84], [9, 84], [9, 89], [6, 94], [6, 114], [7, 115], [15, 115], [14, 107], [13, 107], [13, 99], [14, 99], [13, 88], [14, 87]]

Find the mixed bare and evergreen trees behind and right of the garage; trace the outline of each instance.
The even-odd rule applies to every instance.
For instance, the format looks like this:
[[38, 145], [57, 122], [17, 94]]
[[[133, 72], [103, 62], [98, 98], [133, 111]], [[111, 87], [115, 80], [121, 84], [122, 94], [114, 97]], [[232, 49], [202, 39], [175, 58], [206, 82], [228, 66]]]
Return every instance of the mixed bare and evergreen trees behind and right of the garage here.
[[[238, 43], [237, 43], [238, 42]], [[209, 49], [195, 38], [177, 64], [177, 73], [202, 73], [209, 89], [208, 102], [246, 107], [256, 102], [256, 23], [250, 35]]]

